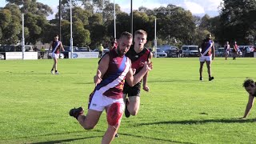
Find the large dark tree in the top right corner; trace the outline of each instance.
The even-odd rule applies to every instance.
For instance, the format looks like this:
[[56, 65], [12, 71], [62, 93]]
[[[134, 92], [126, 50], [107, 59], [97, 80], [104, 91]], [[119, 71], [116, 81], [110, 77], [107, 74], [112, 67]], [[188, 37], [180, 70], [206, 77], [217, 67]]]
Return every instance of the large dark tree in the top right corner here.
[[[225, 42], [249, 44], [255, 37], [256, 1], [224, 0], [220, 14], [218, 38]], [[253, 37], [253, 38], [251, 38]]]

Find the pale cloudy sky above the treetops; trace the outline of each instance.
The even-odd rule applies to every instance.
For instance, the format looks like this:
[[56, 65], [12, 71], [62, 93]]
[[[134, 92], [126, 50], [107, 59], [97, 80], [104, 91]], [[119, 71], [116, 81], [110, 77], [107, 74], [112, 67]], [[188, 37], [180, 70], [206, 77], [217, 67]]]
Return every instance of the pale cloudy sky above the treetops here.
[[[54, 10], [54, 14], [58, 11], [58, 0], [38, 0]], [[111, 2], [114, 2], [112, 0]], [[190, 10], [192, 14], [203, 16], [204, 14], [214, 17], [218, 15], [218, 6], [222, 0], [134, 0], [133, 9], [138, 10], [138, 7], [144, 6], [149, 9], [158, 8], [159, 6], [167, 6], [168, 4], [173, 4], [176, 6], [181, 6], [185, 10]], [[130, 0], [115, 0], [122, 11], [130, 13]], [[6, 5], [6, 0], [0, 0], [0, 7]], [[47, 19], [54, 18], [54, 14], [50, 15]]]

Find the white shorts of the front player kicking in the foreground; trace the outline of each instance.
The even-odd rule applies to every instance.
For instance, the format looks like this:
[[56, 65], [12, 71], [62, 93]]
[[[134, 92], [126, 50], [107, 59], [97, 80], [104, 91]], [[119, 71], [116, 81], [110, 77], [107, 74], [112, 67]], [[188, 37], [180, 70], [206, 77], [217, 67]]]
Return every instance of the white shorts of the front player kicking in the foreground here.
[[88, 106], [88, 109], [90, 110], [103, 111], [107, 106], [111, 106], [114, 102], [119, 102], [122, 106], [122, 111], [125, 110], [125, 103], [123, 102], [123, 98], [109, 98], [101, 94], [98, 90], [96, 90], [91, 97], [92, 98], [90, 99]]

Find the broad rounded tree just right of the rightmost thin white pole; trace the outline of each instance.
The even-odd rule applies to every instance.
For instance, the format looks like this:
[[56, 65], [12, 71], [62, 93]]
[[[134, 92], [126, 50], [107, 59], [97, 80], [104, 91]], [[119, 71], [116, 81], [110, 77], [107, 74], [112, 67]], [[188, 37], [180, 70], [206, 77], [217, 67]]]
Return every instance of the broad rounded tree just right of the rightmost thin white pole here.
[[190, 11], [182, 7], [168, 5], [154, 9], [158, 19], [158, 36], [162, 39], [167, 37], [176, 38], [183, 43], [192, 44], [195, 30], [194, 18]]

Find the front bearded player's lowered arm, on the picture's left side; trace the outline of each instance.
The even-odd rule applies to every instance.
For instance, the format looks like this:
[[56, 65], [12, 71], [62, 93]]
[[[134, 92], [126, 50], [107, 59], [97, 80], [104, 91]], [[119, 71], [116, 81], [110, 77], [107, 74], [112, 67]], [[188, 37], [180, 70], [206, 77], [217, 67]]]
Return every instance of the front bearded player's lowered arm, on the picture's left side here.
[[109, 62], [110, 62], [110, 55], [105, 54], [100, 62], [98, 63], [98, 70], [97, 73], [94, 76], [94, 83], [95, 86], [98, 85], [102, 81], [103, 75], [106, 73], [106, 70], [109, 68]]

